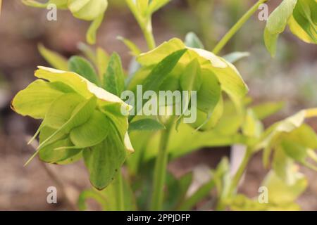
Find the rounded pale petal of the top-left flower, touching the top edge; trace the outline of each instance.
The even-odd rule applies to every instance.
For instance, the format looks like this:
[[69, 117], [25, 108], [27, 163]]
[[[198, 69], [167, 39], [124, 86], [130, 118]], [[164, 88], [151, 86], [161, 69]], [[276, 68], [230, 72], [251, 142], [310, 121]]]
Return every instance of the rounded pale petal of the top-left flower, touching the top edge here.
[[107, 0], [68, 0], [68, 9], [75, 18], [94, 20], [104, 14], [108, 6]]

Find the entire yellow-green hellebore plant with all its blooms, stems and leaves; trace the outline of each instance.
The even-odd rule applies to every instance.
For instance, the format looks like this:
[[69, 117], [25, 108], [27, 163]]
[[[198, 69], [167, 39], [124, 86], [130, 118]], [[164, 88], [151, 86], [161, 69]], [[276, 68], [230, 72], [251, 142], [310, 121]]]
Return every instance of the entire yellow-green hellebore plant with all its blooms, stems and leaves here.
[[[106, 0], [23, 2], [35, 7], [56, 4], [76, 18], [92, 20], [87, 35], [89, 43], [94, 42], [108, 5]], [[117, 53], [108, 56], [101, 48], [94, 51], [80, 44], [85, 57], [73, 56], [68, 60], [39, 44], [39, 52], [55, 69], [39, 67], [35, 72], [38, 79], [12, 102], [13, 110], [20, 115], [43, 120], [32, 139], [39, 135], [35, 155], [38, 153], [44, 162], [61, 165], [83, 158], [94, 188], [80, 194], [80, 210], [86, 209], [87, 198], [97, 200], [103, 210], [192, 210], [213, 188], [217, 191], [214, 201], [217, 210], [299, 210], [294, 201], [305, 190], [307, 181], [298, 171], [297, 163], [317, 171], [313, 163], [317, 162], [317, 135], [304, 123], [306, 118], [317, 116], [317, 108], [302, 110], [264, 129], [261, 120], [278, 112], [282, 103], [251, 105], [251, 98], [246, 96], [248, 87], [232, 64], [248, 53], [218, 56], [266, 1], [256, 2], [213, 52], [204, 49], [192, 32], [185, 41], [173, 38], [156, 46], [151, 15], [168, 2], [126, 0], [149, 47], [148, 52], [141, 53], [132, 41], [118, 38], [134, 56], [128, 76]], [[300, 39], [316, 44], [316, 7], [314, 0], [284, 0], [271, 13], [264, 39], [272, 55], [278, 35], [287, 24]], [[129, 105], [130, 99], [122, 94], [124, 91], [135, 94], [138, 85], [154, 94], [188, 91], [182, 106], [185, 110], [197, 107], [197, 120], [186, 124], [185, 113], [137, 115], [142, 108]], [[197, 91], [197, 105], [189, 106], [192, 91]], [[162, 107], [175, 110], [175, 104], [158, 105]], [[132, 110], [135, 113], [129, 115]], [[192, 172], [177, 179], [167, 171], [169, 160], [199, 148], [235, 144], [247, 149], [237, 172], [230, 174], [228, 159], [224, 158], [211, 170], [210, 180], [190, 195]], [[271, 165], [261, 185], [268, 188], [266, 204], [237, 193], [249, 160], [260, 150], [263, 150], [263, 165]], [[121, 167], [125, 167], [124, 176]]]

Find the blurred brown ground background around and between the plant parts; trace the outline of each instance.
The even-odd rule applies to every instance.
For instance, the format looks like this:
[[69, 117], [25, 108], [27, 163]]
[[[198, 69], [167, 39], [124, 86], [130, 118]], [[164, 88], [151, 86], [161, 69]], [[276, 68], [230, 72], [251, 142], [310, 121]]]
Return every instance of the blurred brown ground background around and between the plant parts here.
[[[200, 4], [197, 4], [199, 2]], [[154, 15], [156, 42], [172, 37], [184, 39], [190, 31], [196, 32], [211, 49], [228, 28], [235, 23], [255, 1], [246, 0], [172, 0], [168, 6]], [[280, 1], [271, 1], [270, 8]], [[213, 9], [213, 10], [212, 10]], [[58, 11], [58, 20], [46, 20], [46, 9], [29, 8], [20, 0], [4, 0], [0, 17], [0, 210], [66, 210], [66, 200], [58, 198], [58, 204], [46, 203], [46, 188], [58, 186], [43, 167], [33, 160], [23, 167], [32, 154], [26, 145], [25, 135], [32, 135], [39, 122], [21, 117], [10, 109], [14, 94], [32, 82], [37, 65], [47, 65], [37, 51], [43, 43], [64, 56], [73, 56], [79, 51], [77, 44], [85, 41], [89, 23], [77, 20], [67, 11]], [[275, 122], [302, 108], [317, 105], [317, 48], [293, 37], [287, 30], [280, 37], [278, 56], [272, 59], [263, 46], [262, 36], [265, 21], [254, 16], [235, 36], [225, 49], [249, 51], [251, 56], [237, 63], [237, 68], [250, 88], [256, 102], [285, 101], [285, 110], [266, 120], [266, 125]], [[117, 51], [128, 68], [128, 49], [116, 37], [127, 37], [146, 51], [142, 33], [123, 1], [109, 0], [106, 18], [97, 36], [97, 45], [111, 53]], [[317, 121], [310, 124], [317, 130]], [[228, 148], [203, 149], [170, 164], [170, 170], [182, 174], [197, 165], [214, 167], [221, 156], [228, 155]], [[81, 163], [67, 166], [51, 165], [49, 169], [58, 175], [70, 200], [89, 188], [87, 172]], [[317, 210], [317, 174], [302, 169], [309, 178], [309, 188], [299, 198], [304, 210]], [[261, 155], [251, 160], [246, 180], [241, 187], [250, 197], [265, 175]]]

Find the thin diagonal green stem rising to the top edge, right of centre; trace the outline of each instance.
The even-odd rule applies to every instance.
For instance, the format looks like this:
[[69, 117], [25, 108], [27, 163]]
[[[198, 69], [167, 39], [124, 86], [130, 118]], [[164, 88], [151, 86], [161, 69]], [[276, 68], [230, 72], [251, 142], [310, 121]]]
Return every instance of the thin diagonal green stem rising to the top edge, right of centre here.
[[223, 49], [225, 44], [230, 41], [233, 35], [235, 35], [235, 33], [240, 30], [242, 25], [244, 25], [244, 23], [246, 23], [247, 20], [249, 20], [249, 18], [251, 18], [251, 16], [258, 10], [259, 6], [263, 3], [266, 3], [266, 1], [268, 0], [257, 1], [256, 4], [254, 4], [254, 6], [252, 6], [249, 11], [247, 11], [247, 13], [244, 13], [242, 18], [240, 18], [240, 20], [238, 20], [237, 23], [235, 23], [235, 25], [233, 25], [233, 27], [227, 32], [227, 34], [225, 34], [225, 36], [223, 36], [223, 38], [218, 42], [216, 47], [213, 49], [213, 53], [218, 54]]

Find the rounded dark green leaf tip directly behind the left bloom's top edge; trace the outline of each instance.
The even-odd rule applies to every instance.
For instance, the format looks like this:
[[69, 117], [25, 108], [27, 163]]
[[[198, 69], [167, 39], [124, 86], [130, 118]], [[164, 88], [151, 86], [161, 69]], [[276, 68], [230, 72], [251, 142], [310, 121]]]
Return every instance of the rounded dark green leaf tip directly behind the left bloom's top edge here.
[[85, 77], [87, 80], [89, 80], [89, 82], [92, 82], [96, 85], [99, 84], [96, 71], [94, 70], [92, 64], [89, 63], [89, 61], [85, 58], [80, 56], [72, 56], [68, 60], [68, 69], [77, 73], [78, 75], [81, 75], [82, 77]]

